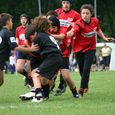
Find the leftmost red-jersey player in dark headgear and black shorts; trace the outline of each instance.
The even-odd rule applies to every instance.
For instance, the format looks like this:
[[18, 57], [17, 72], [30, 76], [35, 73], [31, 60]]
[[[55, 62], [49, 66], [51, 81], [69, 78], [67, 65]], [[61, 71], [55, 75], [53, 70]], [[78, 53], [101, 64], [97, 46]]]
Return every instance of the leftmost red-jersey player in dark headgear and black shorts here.
[[[16, 40], [19, 46], [25, 47], [25, 29], [28, 25], [28, 15], [21, 14], [20, 22], [21, 25], [16, 28]], [[16, 63], [16, 70], [18, 73], [24, 75], [25, 85], [32, 85], [31, 77], [30, 77], [30, 61], [27, 53], [18, 52], [18, 59]], [[26, 64], [26, 70], [24, 69]]]

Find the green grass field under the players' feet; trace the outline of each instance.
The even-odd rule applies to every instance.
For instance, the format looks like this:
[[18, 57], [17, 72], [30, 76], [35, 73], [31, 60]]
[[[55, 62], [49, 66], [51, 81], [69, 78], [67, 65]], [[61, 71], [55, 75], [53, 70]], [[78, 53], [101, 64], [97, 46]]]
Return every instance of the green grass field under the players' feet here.
[[[79, 88], [79, 74], [71, 75]], [[115, 115], [115, 72], [92, 72], [90, 90], [80, 99], [74, 99], [67, 88], [62, 96], [50, 95], [48, 101], [22, 102], [19, 95], [27, 91], [20, 75], [5, 75], [0, 88], [0, 115]]]

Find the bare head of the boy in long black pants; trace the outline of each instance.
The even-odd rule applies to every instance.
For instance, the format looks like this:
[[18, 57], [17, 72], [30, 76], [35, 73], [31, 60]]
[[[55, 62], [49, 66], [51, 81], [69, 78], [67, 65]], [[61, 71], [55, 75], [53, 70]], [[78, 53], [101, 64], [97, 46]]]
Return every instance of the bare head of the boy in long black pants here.
[[80, 8], [81, 17], [85, 22], [89, 22], [93, 15], [93, 6], [91, 4], [83, 4]]

